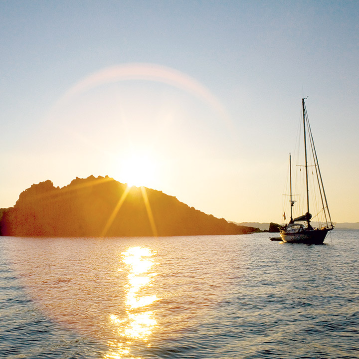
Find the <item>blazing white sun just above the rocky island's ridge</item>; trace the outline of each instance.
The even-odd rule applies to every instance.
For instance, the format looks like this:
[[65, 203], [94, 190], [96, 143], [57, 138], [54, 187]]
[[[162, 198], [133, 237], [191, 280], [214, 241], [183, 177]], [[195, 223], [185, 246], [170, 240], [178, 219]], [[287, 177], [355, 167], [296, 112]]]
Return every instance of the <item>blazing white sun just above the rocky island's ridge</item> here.
[[121, 161], [121, 179], [129, 186], [152, 186], [157, 163], [148, 152], [131, 153]]

